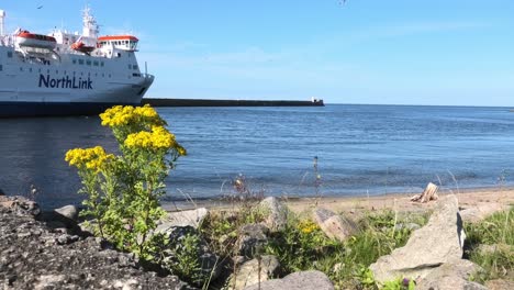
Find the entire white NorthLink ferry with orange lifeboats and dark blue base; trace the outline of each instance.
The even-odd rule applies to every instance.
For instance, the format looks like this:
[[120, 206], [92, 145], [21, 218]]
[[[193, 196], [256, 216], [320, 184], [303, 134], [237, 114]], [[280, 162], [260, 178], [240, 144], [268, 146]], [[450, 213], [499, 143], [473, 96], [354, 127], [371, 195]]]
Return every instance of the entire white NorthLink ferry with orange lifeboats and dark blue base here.
[[86, 8], [82, 33], [4, 34], [0, 10], [0, 116], [97, 114], [114, 104], [141, 103], [154, 76], [141, 71], [137, 37], [99, 36]]

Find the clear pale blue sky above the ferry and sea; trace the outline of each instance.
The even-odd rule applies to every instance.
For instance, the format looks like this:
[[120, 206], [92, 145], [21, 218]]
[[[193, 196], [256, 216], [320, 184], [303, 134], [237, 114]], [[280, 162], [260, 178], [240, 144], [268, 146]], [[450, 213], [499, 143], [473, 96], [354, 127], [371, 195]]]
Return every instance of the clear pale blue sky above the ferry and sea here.
[[[147, 97], [514, 105], [514, 1], [2, 0], [7, 27], [139, 37]], [[37, 9], [37, 7], [43, 8]]]

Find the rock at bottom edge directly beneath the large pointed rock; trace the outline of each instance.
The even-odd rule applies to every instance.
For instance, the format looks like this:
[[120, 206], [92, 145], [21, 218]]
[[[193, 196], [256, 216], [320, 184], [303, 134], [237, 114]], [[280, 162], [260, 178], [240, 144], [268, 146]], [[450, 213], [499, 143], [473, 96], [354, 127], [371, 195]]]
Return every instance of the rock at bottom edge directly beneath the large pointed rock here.
[[416, 289], [485, 289], [483, 286], [470, 282], [469, 278], [483, 269], [477, 264], [459, 259], [449, 261], [431, 271], [425, 278], [417, 281]]

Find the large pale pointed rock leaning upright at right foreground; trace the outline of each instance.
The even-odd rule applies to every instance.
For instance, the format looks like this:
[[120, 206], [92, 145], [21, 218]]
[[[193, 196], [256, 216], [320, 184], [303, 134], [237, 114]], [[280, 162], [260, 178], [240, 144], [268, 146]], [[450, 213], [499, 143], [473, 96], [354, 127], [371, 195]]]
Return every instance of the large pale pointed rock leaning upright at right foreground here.
[[369, 267], [380, 282], [396, 277], [423, 279], [434, 268], [462, 258], [462, 221], [455, 194], [439, 199], [428, 223], [412, 233], [406, 245]]

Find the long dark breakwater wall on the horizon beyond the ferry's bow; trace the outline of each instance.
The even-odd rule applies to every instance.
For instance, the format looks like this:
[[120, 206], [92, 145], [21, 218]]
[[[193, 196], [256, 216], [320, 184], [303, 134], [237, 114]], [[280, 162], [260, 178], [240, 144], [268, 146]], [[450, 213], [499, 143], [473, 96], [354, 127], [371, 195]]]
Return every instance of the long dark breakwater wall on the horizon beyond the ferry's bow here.
[[206, 99], [158, 99], [143, 98], [142, 104], [152, 107], [309, 107], [325, 105], [323, 100], [290, 101], [290, 100], [206, 100]]

